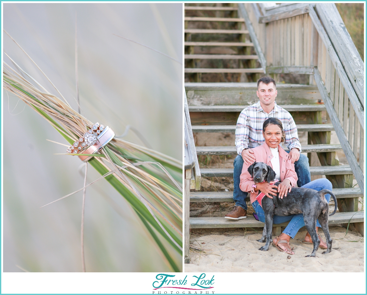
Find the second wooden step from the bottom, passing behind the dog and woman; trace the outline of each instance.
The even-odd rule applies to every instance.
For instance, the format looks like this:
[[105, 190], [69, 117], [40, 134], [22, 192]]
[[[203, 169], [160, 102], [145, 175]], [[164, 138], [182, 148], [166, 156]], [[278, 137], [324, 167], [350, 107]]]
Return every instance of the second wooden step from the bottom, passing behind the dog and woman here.
[[[333, 193], [337, 199], [363, 197], [359, 187], [333, 188]], [[233, 202], [233, 191], [192, 191], [190, 202]], [[250, 197], [246, 202], [250, 202]]]

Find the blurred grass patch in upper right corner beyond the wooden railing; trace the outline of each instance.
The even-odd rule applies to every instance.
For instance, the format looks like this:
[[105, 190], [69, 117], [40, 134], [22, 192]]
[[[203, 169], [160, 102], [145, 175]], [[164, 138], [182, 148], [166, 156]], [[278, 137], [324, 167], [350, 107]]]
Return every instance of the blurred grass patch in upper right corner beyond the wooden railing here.
[[364, 3], [335, 3], [335, 5], [364, 61]]

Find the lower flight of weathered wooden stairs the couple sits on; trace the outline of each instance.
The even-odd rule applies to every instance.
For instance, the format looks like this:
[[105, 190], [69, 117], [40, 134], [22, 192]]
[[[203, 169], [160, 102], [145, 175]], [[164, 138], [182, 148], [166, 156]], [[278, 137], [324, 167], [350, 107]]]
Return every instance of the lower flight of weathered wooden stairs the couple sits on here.
[[[258, 101], [255, 83], [185, 83], [188, 109], [195, 133], [235, 133], [236, 121], [246, 105]], [[363, 194], [360, 188], [352, 188], [352, 170], [349, 165], [339, 165], [335, 152], [342, 150], [340, 144], [330, 144], [332, 124], [322, 122], [322, 112], [325, 106], [320, 104], [320, 93], [316, 86], [299, 84], [279, 84], [277, 86], [277, 103], [287, 109], [294, 118], [298, 132], [308, 132], [308, 145], [302, 145], [302, 152], [307, 152], [311, 160], [311, 153], [317, 153], [319, 158], [325, 159], [326, 165], [311, 166], [312, 176], [325, 175], [333, 183], [333, 191], [338, 198], [339, 212], [330, 217], [330, 224], [348, 223], [350, 213], [344, 208], [357, 206], [358, 198]], [[242, 105], [241, 105], [242, 104]], [[315, 120], [316, 118], [316, 120]], [[318, 118], [318, 119], [317, 119]], [[200, 134], [196, 134], [200, 136]], [[321, 138], [321, 143], [316, 143], [312, 138]], [[287, 150], [287, 147], [284, 147]], [[233, 146], [196, 146], [196, 154], [212, 155], [237, 155]], [[333, 160], [333, 161], [332, 161]], [[311, 162], [311, 161], [310, 161]], [[233, 168], [200, 168], [202, 177], [233, 177]], [[348, 186], [347, 186], [347, 185]], [[250, 201], [247, 198], [246, 201]], [[190, 192], [190, 202], [233, 202], [233, 192]], [[346, 218], [349, 219], [346, 220]], [[360, 211], [352, 217], [351, 222], [363, 222], [363, 212]], [[224, 217], [190, 217], [191, 228], [213, 227], [262, 227], [252, 216], [240, 222], [225, 220]], [[275, 233], [280, 231], [279, 225]]]

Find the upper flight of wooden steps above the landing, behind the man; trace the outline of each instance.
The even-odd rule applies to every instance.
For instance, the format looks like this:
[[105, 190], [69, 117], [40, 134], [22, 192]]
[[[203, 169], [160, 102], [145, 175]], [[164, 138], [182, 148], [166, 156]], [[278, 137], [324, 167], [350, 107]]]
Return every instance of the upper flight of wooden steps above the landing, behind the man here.
[[202, 5], [185, 6], [185, 81], [216, 74], [218, 81], [247, 82], [246, 74], [264, 73], [238, 8]]

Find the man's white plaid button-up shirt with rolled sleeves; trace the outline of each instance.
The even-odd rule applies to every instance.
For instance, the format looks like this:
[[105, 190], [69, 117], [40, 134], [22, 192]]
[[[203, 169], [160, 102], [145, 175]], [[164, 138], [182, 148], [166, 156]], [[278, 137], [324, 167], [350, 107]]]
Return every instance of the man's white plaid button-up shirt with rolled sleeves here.
[[284, 144], [289, 150], [298, 148], [301, 152], [301, 144], [298, 140], [297, 126], [294, 120], [285, 109], [276, 104], [273, 110], [268, 114], [264, 112], [260, 105], [260, 101], [245, 108], [237, 120], [236, 125], [236, 149], [241, 155], [244, 148], [254, 148], [265, 142], [262, 136], [262, 125], [268, 118], [277, 118], [283, 124], [283, 130], [286, 133]]

